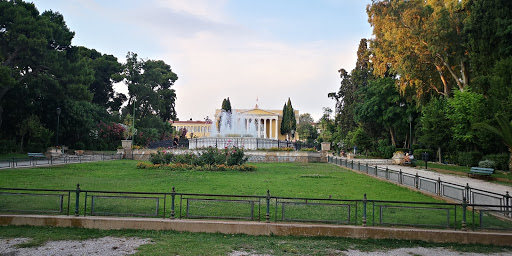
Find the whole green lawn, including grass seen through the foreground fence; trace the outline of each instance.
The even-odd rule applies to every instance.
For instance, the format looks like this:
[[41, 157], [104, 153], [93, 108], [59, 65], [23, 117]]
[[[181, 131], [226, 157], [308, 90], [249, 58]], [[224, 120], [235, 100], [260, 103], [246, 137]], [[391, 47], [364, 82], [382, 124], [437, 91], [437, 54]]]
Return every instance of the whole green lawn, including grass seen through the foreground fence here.
[[[80, 184], [82, 190], [125, 191], [170, 193], [176, 187], [178, 193], [217, 194], [265, 196], [269, 190], [273, 197], [316, 198], [361, 200], [367, 194], [368, 200], [408, 201], [441, 203], [420, 192], [397, 186], [393, 183], [380, 181], [366, 175], [343, 169], [326, 163], [258, 163], [254, 172], [208, 172], [208, 171], [170, 171], [164, 169], [137, 169], [137, 161], [115, 160], [84, 164], [70, 164], [52, 167], [5, 169], [0, 171], [0, 187], [27, 189], [65, 189], [73, 190]], [[70, 212], [74, 212], [75, 193], [71, 193]], [[97, 195], [94, 204], [95, 214], [140, 214], [169, 217], [170, 196], [163, 198], [159, 195], [149, 198], [105, 197], [110, 194], [89, 193], [85, 204], [85, 195], [80, 197], [80, 214], [91, 214], [91, 195]], [[116, 194], [116, 196], [124, 196]], [[141, 195], [131, 196], [140, 197]], [[155, 199], [159, 197], [159, 199]], [[183, 198], [193, 198], [184, 196]], [[4, 194], [0, 200], [0, 209], [17, 210], [46, 210], [52, 211], [59, 205], [59, 197], [55, 195], [17, 195]], [[247, 201], [212, 201], [204, 200], [204, 196], [196, 200], [184, 199], [178, 196], [175, 207], [177, 216], [185, 214], [186, 202], [190, 215], [228, 217], [248, 217], [251, 212]], [[197, 200], [199, 199], [199, 200]], [[206, 198], [207, 199], [207, 198]], [[233, 198], [220, 198], [229, 199]], [[160, 200], [157, 202], [157, 200]], [[67, 196], [64, 196], [67, 201]], [[166, 204], [164, 209], [164, 202]], [[183, 204], [182, 204], [183, 202]], [[315, 204], [316, 203], [316, 204]], [[327, 202], [333, 203], [333, 202]], [[261, 207], [259, 207], [261, 206]], [[443, 209], [431, 205], [401, 204], [400, 206], [426, 208], [396, 208], [397, 204], [368, 203], [367, 215], [369, 225], [380, 225], [379, 211], [384, 213], [383, 223], [391, 225], [411, 224], [426, 226], [446, 226], [449, 216], [449, 228], [460, 228], [462, 210], [453, 206], [443, 206]], [[21, 208], [23, 207], [23, 208]], [[64, 205], [66, 207], [66, 205]], [[254, 210], [256, 220], [264, 220], [266, 201], [256, 201]], [[286, 209], [287, 220], [318, 220], [337, 221], [360, 225], [362, 221], [362, 203], [344, 202], [343, 204], [325, 204], [325, 201], [308, 200], [272, 200], [269, 211], [271, 220], [283, 218], [282, 211]], [[448, 214], [448, 215], [447, 215]], [[375, 218], [373, 218], [375, 216]], [[487, 217], [486, 217], [487, 218]], [[375, 221], [375, 223], [374, 223]], [[510, 223], [494, 222], [493, 217], [484, 219], [485, 224], [498, 228], [510, 228]], [[473, 221], [468, 219], [471, 226]], [[475, 223], [479, 223], [478, 219]], [[484, 225], [485, 226], [485, 225]], [[478, 227], [478, 224], [475, 224]]]

